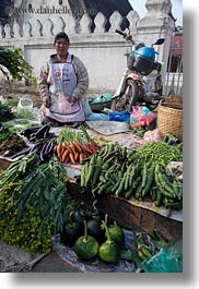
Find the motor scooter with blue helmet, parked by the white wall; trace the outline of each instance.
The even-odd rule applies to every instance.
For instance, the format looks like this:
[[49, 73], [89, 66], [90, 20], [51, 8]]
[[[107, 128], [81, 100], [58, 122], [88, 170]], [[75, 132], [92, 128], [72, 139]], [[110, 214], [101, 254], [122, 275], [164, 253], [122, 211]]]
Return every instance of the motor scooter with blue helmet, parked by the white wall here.
[[162, 45], [164, 38], [159, 38], [151, 47], [144, 43], [132, 39], [132, 35], [116, 29], [116, 33], [130, 43], [125, 56], [127, 57], [127, 68], [124, 71], [119, 86], [113, 96], [112, 110], [131, 111], [132, 106], [143, 105], [150, 110], [154, 110], [162, 97], [162, 64], [156, 61], [157, 51], [154, 45]]

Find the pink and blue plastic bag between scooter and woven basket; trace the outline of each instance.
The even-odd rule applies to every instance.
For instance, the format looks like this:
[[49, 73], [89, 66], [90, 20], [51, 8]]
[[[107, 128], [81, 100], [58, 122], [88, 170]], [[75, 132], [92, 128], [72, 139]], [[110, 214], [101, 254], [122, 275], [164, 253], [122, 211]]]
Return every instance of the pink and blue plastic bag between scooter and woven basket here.
[[130, 113], [131, 127], [144, 127], [149, 125], [154, 119], [154, 113], [145, 106], [132, 106]]

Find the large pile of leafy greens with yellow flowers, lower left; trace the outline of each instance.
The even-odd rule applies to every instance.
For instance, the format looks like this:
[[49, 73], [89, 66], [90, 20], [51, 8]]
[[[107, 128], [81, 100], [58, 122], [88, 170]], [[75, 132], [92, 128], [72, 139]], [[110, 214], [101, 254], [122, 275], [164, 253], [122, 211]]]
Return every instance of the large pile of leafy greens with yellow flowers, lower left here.
[[52, 236], [62, 230], [77, 202], [67, 191], [60, 161], [52, 157], [36, 166], [37, 160], [31, 154], [0, 174], [0, 239], [25, 251], [48, 253]]

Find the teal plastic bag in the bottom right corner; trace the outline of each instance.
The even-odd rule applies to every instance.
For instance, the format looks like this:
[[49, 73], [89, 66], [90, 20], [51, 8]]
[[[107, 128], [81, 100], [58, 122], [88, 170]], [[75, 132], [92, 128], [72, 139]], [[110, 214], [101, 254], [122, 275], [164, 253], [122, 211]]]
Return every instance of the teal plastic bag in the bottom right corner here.
[[171, 249], [162, 248], [150, 260], [145, 258], [141, 267], [145, 273], [183, 273], [183, 244], [182, 241]]

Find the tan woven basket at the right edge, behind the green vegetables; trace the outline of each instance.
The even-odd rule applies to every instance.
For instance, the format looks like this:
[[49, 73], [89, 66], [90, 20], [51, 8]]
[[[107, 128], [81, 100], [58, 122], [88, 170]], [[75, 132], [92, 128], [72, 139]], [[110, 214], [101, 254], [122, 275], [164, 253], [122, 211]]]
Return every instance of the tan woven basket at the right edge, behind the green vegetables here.
[[162, 103], [157, 107], [157, 128], [163, 136], [171, 133], [183, 141], [183, 105]]

